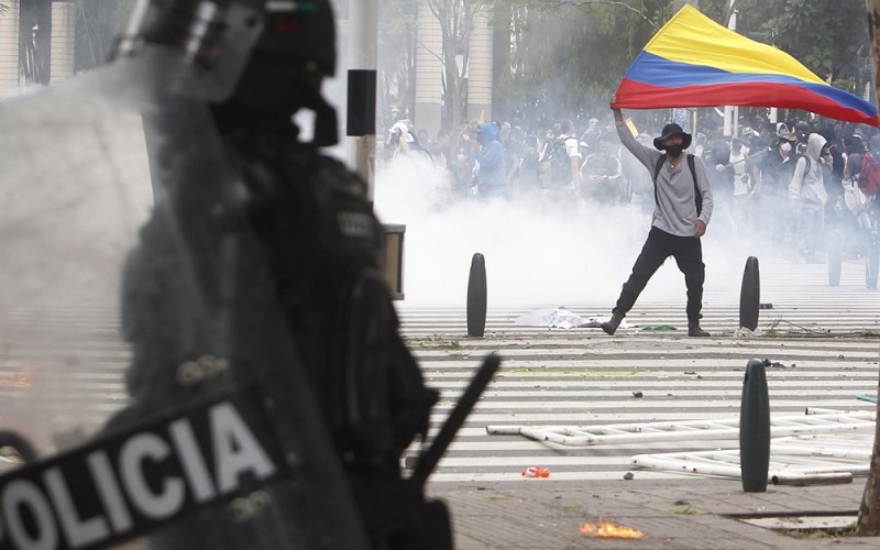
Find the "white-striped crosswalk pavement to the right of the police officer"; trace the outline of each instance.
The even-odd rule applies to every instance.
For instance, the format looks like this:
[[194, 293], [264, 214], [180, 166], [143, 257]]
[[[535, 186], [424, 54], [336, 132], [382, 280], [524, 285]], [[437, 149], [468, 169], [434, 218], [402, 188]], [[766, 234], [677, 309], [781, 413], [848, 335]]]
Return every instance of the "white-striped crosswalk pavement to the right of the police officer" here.
[[[857, 396], [877, 395], [880, 316], [877, 293], [865, 288], [861, 267], [848, 262], [842, 285], [828, 287], [825, 265], [763, 262], [761, 301], [773, 307], [761, 310], [755, 336], [737, 333], [741, 272], [715, 280], [727, 292], [725, 301], [704, 308], [703, 327], [713, 334], [707, 339], [686, 337], [683, 292], [678, 301], [651, 299], [646, 292], [626, 319], [628, 328], [614, 337], [597, 328], [524, 327], [515, 321], [530, 309], [490, 305], [485, 336], [469, 338], [463, 308], [403, 302], [404, 332], [429, 384], [442, 392], [438, 425], [481, 359], [491, 352], [503, 358], [432, 481], [515, 481], [531, 465], [548, 468], [554, 480], [620, 480], [628, 472], [637, 479], [682, 477], [635, 470], [630, 459], [736, 449], [737, 441], [566, 447], [491, 436], [486, 427], [638, 427], [737, 418], [750, 359], [771, 362], [767, 378], [773, 418], [803, 415], [807, 408], [872, 411], [875, 406]], [[706, 295], [712, 294], [707, 288]], [[568, 307], [585, 320], [607, 316], [607, 304]], [[676, 330], [646, 330], [670, 327]]]

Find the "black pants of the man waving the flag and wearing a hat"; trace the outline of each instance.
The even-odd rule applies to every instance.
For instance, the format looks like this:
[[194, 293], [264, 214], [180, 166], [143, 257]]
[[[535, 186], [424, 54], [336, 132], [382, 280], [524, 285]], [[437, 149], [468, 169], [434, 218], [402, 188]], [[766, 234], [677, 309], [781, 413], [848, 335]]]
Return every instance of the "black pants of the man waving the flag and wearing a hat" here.
[[651, 228], [648, 240], [645, 241], [639, 257], [632, 266], [632, 274], [624, 283], [624, 289], [614, 308], [615, 314], [626, 315], [632, 309], [648, 280], [669, 256], [675, 258], [679, 270], [684, 274], [684, 284], [688, 287], [688, 321], [700, 320], [700, 310], [703, 308], [703, 282], [706, 279], [703, 245], [695, 237], [675, 237], [657, 228]]

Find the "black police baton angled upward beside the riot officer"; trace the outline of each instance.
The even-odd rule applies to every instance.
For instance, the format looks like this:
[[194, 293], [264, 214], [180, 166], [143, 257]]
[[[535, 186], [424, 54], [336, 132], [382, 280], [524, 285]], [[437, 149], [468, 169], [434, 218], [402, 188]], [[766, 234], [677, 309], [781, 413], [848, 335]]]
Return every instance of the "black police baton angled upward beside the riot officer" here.
[[420, 487], [425, 485], [425, 482], [428, 481], [428, 476], [431, 475], [437, 463], [440, 462], [440, 458], [447, 452], [450, 443], [452, 443], [455, 433], [464, 424], [464, 419], [468, 418], [468, 415], [471, 414], [474, 405], [476, 405], [476, 400], [480, 399], [483, 391], [486, 389], [488, 383], [492, 382], [492, 377], [495, 376], [495, 372], [498, 370], [501, 363], [501, 358], [495, 353], [490, 354], [483, 361], [480, 370], [476, 371], [476, 374], [464, 391], [464, 395], [461, 396], [459, 403], [455, 404], [455, 408], [452, 409], [449, 418], [443, 422], [440, 432], [438, 432], [428, 450], [419, 457], [419, 461], [416, 463], [416, 468], [409, 481]]

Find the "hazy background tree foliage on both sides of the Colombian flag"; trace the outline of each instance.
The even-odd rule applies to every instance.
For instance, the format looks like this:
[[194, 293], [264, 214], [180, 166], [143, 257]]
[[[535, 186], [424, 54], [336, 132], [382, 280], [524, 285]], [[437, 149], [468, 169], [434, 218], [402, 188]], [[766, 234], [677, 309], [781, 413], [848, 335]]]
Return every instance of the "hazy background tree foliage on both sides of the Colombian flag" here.
[[[461, 22], [454, 7], [477, 0], [427, 0], [444, 23]], [[547, 128], [562, 118], [607, 113], [629, 64], [681, 2], [672, 0], [495, 0], [509, 21], [509, 75], [493, 75], [504, 95], [499, 120]], [[697, 8], [727, 26], [736, 11], [740, 34], [793, 55], [833, 86], [862, 95], [871, 88], [865, 6], [837, 0], [701, 0]], [[446, 10], [446, 11], [444, 11]], [[451, 14], [455, 14], [451, 16]], [[458, 18], [458, 19], [457, 19]], [[466, 19], [463, 20], [466, 24]], [[496, 26], [504, 21], [494, 21]], [[468, 29], [444, 29], [451, 47], [468, 55]], [[497, 42], [496, 42], [497, 45]], [[444, 75], [448, 92], [450, 75]], [[454, 82], [453, 82], [454, 86]], [[463, 100], [461, 96], [455, 96]], [[501, 96], [498, 96], [501, 97]], [[450, 98], [444, 98], [449, 101]]]

